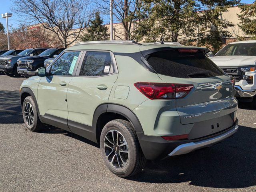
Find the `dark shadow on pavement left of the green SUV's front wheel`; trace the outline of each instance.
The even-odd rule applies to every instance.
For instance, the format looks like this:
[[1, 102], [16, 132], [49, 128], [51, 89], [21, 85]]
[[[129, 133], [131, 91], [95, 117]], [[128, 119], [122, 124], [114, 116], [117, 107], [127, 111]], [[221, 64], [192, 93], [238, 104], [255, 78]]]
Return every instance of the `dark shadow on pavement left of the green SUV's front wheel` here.
[[18, 90], [0, 90], [0, 124], [8, 123], [23, 123]]

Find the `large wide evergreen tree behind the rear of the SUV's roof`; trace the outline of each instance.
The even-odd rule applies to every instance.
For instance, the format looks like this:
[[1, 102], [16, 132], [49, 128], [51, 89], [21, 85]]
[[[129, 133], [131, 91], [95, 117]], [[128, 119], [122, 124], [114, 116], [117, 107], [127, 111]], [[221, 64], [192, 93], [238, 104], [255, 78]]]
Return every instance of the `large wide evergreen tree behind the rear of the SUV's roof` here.
[[209, 46], [215, 52], [222, 38], [230, 37], [232, 23], [221, 20], [222, 12], [239, 0], [142, 0], [133, 38], [146, 42], [181, 42]]

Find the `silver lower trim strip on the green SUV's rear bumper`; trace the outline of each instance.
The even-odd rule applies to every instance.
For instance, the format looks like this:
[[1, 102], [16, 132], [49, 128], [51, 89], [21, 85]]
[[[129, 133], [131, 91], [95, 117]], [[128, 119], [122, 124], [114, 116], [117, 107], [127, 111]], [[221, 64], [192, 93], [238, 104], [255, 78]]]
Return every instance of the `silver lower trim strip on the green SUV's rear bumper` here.
[[238, 125], [236, 125], [234, 128], [232, 128], [228, 132], [225, 132], [216, 137], [198, 141], [198, 142], [190, 142], [190, 143], [185, 143], [185, 144], [179, 145], [169, 154], [169, 156], [186, 154], [186, 153], [192, 152], [192, 151], [200, 149], [200, 148], [211, 146], [215, 143], [218, 143], [218, 142], [232, 136], [237, 130], [238, 130]]

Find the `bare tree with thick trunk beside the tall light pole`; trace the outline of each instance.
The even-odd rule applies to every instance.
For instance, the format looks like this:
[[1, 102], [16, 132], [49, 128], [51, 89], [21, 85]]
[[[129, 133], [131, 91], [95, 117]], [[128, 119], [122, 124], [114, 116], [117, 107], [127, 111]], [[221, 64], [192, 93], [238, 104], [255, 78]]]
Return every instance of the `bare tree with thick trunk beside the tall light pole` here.
[[[110, 0], [94, 0], [102, 14], [109, 16]], [[141, 0], [113, 0], [114, 22], [120, 22], [123, 30], [116, 30], [115, 35], [121, 40], [130, 40], [135, 31], [134, 19], [141, 6]]]

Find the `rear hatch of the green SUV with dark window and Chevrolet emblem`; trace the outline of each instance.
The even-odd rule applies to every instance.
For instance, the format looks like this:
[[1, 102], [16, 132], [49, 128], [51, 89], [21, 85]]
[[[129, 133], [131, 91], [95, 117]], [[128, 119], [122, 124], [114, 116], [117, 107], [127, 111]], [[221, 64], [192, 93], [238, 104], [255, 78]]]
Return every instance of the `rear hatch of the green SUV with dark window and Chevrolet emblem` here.
[[211, 126], [211, 120], [215, 119], [217, 124], [218, 118], [227, 115], [229, 123], [225, 127], [232, 126], [237, 110], [233, 84], [230, 77], [205, 56], [204, 49], [168, 48], [142, 54], [164, 82], [194, 86], [184, 98], [176, 99], [181, 124], [209, 121]]

